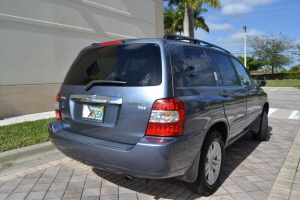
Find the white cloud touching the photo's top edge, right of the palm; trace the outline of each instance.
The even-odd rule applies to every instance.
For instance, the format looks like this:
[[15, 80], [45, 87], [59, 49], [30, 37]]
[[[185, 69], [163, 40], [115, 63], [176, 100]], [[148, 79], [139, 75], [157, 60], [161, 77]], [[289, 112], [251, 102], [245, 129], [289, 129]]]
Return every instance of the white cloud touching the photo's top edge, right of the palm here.
[[224, 15], [239, 15], [253, 10], [255, 6], [266, 5], [279, 0], [220, 0]]

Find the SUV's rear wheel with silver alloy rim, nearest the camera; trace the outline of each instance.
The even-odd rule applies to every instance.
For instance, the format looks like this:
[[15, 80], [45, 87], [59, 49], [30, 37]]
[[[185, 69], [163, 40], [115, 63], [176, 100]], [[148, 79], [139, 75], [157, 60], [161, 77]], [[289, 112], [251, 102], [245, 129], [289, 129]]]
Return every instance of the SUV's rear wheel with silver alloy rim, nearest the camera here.
[[197, 179], [186, 182], [189, 190], [209, 196], [218, 186], [223, 173], [225, 150], [222, 136], [219, 132], [212, 132], [203, 142]]

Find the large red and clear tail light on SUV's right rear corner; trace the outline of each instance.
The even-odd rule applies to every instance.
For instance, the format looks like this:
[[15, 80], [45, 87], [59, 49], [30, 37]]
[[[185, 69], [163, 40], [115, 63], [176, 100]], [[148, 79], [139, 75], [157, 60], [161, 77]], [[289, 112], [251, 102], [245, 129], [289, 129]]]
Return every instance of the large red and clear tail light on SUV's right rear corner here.
[[184, 102], [178, 98], [158, 99], [154, 102], [146, 135], [183, 135], [185, 121]]

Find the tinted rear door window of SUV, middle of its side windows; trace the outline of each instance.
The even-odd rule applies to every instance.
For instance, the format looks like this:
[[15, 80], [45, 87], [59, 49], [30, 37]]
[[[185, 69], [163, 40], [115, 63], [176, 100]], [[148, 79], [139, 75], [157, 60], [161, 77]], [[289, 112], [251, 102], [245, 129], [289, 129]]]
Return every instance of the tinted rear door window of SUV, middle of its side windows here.
[[211, 54], [214, 57], [217, 66], [220, 70], [223, 84], [238, 85], [239, 84], [238, 79], [235, 75], [235, 72], [232, 68], [231, 62], [228, 59], [228, 57], [217, 53], [211, 53]]

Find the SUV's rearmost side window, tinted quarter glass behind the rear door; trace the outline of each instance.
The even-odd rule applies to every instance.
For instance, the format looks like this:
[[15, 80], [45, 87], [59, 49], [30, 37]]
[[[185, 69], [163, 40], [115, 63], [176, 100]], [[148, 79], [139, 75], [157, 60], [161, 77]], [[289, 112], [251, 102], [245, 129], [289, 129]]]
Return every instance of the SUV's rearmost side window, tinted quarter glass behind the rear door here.
[[185, 48], [184, 52], [192, 84], [215, 85], [212, 69], [205, 52], [196, 48]]

